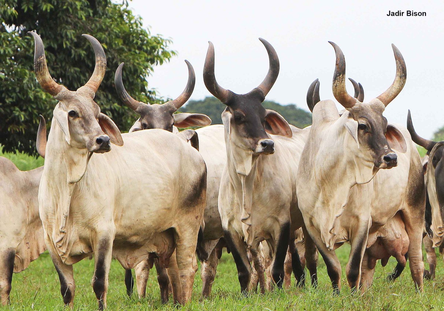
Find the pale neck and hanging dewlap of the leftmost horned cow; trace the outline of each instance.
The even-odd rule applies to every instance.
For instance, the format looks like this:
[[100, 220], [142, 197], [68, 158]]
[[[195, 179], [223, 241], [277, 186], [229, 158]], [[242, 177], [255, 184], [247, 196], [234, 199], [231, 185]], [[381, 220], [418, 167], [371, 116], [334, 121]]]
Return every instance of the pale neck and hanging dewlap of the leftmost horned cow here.
[[[71, 197], [76, 185], [82, 181], [92, 153], [87, 149], [71, 147], [67, 144], [62, 129], [55, 118], [52, 119], [51, 130], [45, 154], [44, 175], [48, 195], [55, 195], [55, 225], [52, 227], [52, 241], [62, 259], [67, 258], [68, 243], [66, 223], [69, 217]], [[55, 229], [58, 227], [58, 230]], [[49, 233], [49, 232], [48, 232]]]

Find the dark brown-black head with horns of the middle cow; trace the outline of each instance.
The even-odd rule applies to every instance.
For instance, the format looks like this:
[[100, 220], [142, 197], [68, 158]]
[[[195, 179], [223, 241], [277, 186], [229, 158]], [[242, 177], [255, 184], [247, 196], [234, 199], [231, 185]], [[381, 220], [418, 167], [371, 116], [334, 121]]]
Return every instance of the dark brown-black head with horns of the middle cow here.
[[226, 109], [222, 121], [232, 144], [254, 154], [274, 153], [274, 141], [267, 133], [291, 137], [289, 124], [277, 112], [265, 109], [262, 102], [270, 91], [279, 74], [279, 59], [276, 51], [264, 39], [270, 60], [270, 68], [262, 83], [247, 94], [235, 94], [222, 88], [214, 76], [214, 46], [209, 42], [203, 70], [203, 80], [208, 91], [217, 97]]

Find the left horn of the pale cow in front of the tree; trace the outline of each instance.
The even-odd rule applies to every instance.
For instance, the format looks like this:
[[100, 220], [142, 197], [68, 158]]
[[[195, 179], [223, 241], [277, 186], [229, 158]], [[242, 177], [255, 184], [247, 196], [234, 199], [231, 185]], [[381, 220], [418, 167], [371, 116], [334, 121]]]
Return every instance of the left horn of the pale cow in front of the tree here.
[[34, 72], [36, 72], [37, 81], [46, 92], [56, 96], [64, 87], [56, 83], [49, 74], [42, 39], [36, 32], [28, 32], [28, 35], [34, 37]]

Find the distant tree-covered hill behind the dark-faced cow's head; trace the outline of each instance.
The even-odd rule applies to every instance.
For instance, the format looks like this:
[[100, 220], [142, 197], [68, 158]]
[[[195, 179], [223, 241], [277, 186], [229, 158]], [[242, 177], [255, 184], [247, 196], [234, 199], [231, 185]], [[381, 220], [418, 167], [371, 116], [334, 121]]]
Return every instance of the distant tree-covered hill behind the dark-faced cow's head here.
[[[266, 109], [280, 113], [289, 124], [298, 128], [305, 128], [311, 124], [311, 113], [297, 108], [294, 104], [281, 105], [270, 100], [266, 100], [262, 104]], [[217, 98], [208, 96], [204, 100], [190, 100], [179, 109], [179, 112], [203, 113], [211, 118], [211, 124], [222, 124], [221, 114], [225, 107]]]

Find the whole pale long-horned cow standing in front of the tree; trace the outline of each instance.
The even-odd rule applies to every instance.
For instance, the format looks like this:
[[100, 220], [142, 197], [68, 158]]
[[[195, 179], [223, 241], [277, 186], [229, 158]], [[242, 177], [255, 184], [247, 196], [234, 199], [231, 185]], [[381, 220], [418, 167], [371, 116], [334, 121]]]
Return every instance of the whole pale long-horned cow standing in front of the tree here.
[[[111, 257], [125, 269], [149, 254], [166, 266], [175, 303], [190, 300], [194, 251], [206, 197], [206, 167], [186, 137], [151, 129], [120, 134], [94, 97], [106, 70], [93, 36], [95, 68], [70, 91], [52, 79], [43, 42], [35, 42], [34, 70], [54, 109], [39, 186], [44, 239], [60, 280], [65, 305], [73, 306], [72, 265], [95, 256], [92, 287], [107, 306]], [[112, 144], [112, 149], [111, 149]], [[175, 256], [172, 256], [175, 251]]]

